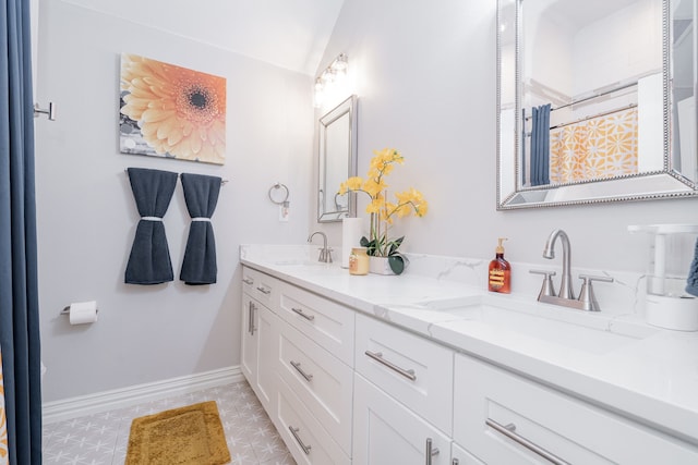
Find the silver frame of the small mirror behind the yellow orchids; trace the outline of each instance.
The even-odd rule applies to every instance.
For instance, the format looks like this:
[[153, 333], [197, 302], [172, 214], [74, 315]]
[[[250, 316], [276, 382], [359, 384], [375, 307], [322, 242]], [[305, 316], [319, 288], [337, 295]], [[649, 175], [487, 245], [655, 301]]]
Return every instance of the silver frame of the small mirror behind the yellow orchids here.
[[[358, 155], [357, 155], [357, 107], [358, 107], [358, 98], [356, 95], [350, 96], [345, 101], [339, 103], [337, 107], [322, 115], [318, 120], [318, 143], [317, 143], [317, 222], [318, 223], [329, 223], [341, 221], [342, 218], [352, 218], [357, 216], [357, 195], [356, 193], [350, 193], [347, 196], [347, 208], [342, 210], [334, 210], [334, 211], [325, 211], [324, 209], [324, 197], [325, 193], [328, 192], [328, 186], [326, 185], [327, 180], [327, 131], [328, 129], [336, 123], [339, 119], [345, 115], [349, 115], [349, 134], [348, 137], [348, 154], [347, 154], [347, 172], [344, 176], [344, 180], [347, 180], [351, 176], [357, 175], [357, 163], [358, 163]], [[344, 181], [342, 180], [342, 181]], [[336, 193], [339, 189], [339, 185], [329, 186], [329, 189], [334, 189]]]

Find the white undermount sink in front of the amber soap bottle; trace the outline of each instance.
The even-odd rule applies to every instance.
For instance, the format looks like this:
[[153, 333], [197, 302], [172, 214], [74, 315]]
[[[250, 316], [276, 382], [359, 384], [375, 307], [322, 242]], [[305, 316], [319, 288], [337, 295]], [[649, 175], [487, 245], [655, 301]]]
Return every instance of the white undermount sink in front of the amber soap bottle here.
[[471, 321], [486, 325], [488, 329], [498, 331], [502, 335], [525, 335], [590, 354], [605, 354], [659, 331], [641, 325], [621, 323], [605, 315], [497, 298], [489, 294], [430, 301], [418, 306], [457, 317], [442, 326], [464, 327]]

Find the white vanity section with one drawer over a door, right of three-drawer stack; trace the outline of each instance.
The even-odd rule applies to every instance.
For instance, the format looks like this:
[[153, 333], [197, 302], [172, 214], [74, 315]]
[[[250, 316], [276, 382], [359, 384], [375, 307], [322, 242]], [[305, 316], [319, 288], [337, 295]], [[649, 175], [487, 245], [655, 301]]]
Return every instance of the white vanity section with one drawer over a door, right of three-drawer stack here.
[[447, 464], [453, 351], [357, 315], [353, 463]]

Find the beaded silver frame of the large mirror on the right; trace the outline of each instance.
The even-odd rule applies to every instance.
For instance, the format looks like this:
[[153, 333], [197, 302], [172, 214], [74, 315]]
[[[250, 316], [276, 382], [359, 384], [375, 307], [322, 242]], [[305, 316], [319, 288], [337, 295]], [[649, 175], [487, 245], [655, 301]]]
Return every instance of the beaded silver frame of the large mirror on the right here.
[[[695, 182], [684, 178], [671, 166], [671, 17], [670, 0], [662, 0], [662, 77], [663, 77], [663, 169], [660, 171], [643, 172], [614, 176], [610, 179], [592, 179], [564, 184], [549, 184], [545, 186], [524, 187], [521, 185], [521, 142], [517, 129], [521, 127], [521, 2], [522, 0], [497, 0], [497, 140], [496, 140], [496, 203], [497, 210], [510, 210], [519, 208], [556, 207], [564, 205], [586, 205], [610, 201], [649, 200], [658, 198], [676, 198], [698, 195]], [[515, 71], [514, 76], [502, 75], [502, 24], [510, 17], [502, 17], [503, 3], [515, 7]], [[695, 27], [695, 26], [694, 26]], [[509, 33], [510, 34], [510, 33]], [[502, 79], [514, 77], [515, 82], [515, 115], [514, 115], [514, 156], [515, 160], [503, 160], [502, 147]], [[694, 96], [698, 98], [698, 96]], [[510, 133], [509, 133], [510, 136]], [[507, 167], [507, 168], [503, 168]], [[506, 179], [506, 182], [504, 180]], [[504, 192], [504, 185], [514, 186], [513, 191]], [[595, 189], [591, 193], [590, 189]], [[547, 200], [549, 194], [562, 197], [558, 200]]]

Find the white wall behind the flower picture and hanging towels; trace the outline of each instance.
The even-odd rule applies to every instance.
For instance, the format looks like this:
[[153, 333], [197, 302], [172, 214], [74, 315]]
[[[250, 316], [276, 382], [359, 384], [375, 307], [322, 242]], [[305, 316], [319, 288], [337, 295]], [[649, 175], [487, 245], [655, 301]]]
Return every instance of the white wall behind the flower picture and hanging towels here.
[[[311, 77], [62, 1], [40, 8], [36, 99], [58, 108], [57, 121], [36, 120], [44, 400], [238, 365], [238, 246], [308, 236]], [[122, 51], [227, 77], [224, 167], [119, 154]], [[128, 167], [230, 181], [213, 217], [217, 284], [123, 284], [139, 219]], [[267, 197], [276, 182], [290, 191], [288, 223]], [[179, 184], [165, 227], [177, 279], [189, 231]], [[95, 325], [71, 327], [59, 316], [87, 299], [99, 304]]]

